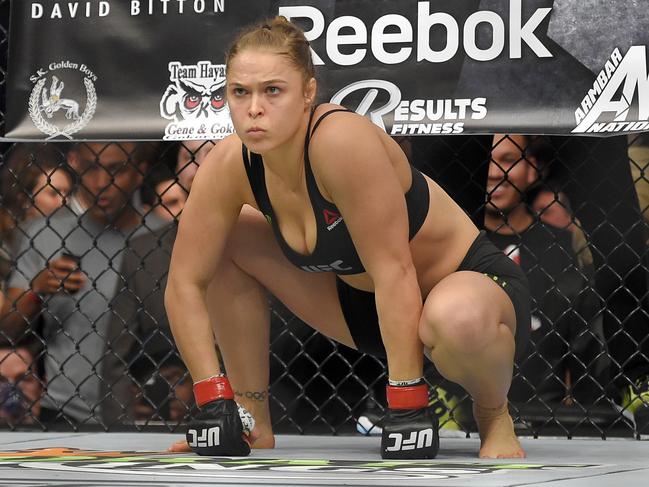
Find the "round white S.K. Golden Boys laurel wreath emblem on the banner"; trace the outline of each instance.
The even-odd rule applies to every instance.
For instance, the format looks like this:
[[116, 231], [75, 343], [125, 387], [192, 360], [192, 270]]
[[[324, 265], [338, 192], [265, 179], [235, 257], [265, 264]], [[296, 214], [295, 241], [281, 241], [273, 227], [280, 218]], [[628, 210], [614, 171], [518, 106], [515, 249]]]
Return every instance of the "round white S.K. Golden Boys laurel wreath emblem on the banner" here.
[[48, 139], [64, 137], [83, 129], [97, 109], [97, 76], [85, 64], [52, 62], [32, 75], [29, 116]]

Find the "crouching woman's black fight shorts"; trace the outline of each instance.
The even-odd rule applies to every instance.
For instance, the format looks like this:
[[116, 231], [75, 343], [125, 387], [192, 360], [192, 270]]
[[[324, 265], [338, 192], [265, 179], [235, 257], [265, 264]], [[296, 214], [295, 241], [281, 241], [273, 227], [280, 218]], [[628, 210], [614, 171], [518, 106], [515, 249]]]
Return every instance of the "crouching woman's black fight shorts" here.
[[[457, 270], [481, 272], [507, 293], [516, 313], [514, 340], [516, 357], [519, 358], [529, 340], [531, 321], [529, 284], [520, 266], [499, 250], [482, 231]], [[374, 293], [353, 288], [340, 278], [336, 278], [336, 285], [340, 307], [358, 350], [385, 357]]]

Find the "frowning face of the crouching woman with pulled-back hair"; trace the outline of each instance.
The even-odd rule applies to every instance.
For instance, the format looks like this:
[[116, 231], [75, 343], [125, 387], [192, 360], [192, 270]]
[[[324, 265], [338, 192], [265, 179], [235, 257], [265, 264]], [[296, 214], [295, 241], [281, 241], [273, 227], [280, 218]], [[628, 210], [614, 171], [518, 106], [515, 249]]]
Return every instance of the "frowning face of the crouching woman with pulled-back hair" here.
[[228, 69], [227, 98], [234, 128], [248, 148], [263, 154], [289, 141], [315, 96], [315, 80], [283, 55], [240, 52]]

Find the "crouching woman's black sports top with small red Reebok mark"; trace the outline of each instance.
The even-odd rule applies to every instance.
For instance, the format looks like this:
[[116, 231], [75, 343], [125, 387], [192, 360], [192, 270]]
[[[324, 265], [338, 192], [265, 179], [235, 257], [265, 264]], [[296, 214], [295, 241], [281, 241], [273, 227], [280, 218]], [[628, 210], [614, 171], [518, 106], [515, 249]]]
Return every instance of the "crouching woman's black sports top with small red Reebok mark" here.
[[[316, 244], [311, 254], [296, 252], [284, 240], [277, 223], [277, 215], [275, 215], [273, 205], [268, 197], [262, 157], [254, 152], [250, 152], [250, 156], [248, 156], [248, 148], [245, 145], [243, 146], [244, 166], [259, 209], [273, 227], [275, 238], [286, 258], [292, 264], [307, 272], [334, 272], [336, 274], [360, 274], [365, 272], [340, 211], [338, 211], [335, 204], [327, 201], [320, 194], [311, 170], [311, 162], [309, 161], [309, 141], [313, 137], [313, 133], [318, 128], [318, 125], [320, 125], [320, 122], [332, 113], [348, 111], [350, 110], [339, 108], [324, 113], [316, 121], [311, 132], [307, 132], [304, 141], [306, 186], [317, 226]], [[312, 118], [313, 112], [311, 112], [309, 126], [311, 126]], [[426, 219], [430, 198], [428, 185], [424, 176], [414, 167], [411, 166], [411, 169], [412, 185], [405, 194], [406, 205], [408, 207], [410, 239], [417, 234]]]

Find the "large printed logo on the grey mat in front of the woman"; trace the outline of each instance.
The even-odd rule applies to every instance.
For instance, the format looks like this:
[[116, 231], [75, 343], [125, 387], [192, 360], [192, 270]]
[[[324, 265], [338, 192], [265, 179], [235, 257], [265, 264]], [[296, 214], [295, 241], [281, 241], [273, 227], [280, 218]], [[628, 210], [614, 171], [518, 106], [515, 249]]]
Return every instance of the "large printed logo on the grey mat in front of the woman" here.
[[[378, 457], [378, 454], [377, 454]], [[0, 452], [0, 469], [38, 469], [86, 473], [166, 475], [176, 477], [235, 477], [290, 480], [397, 481], [413, 479], [469, 479], [483, 474], [531, 470], [578, 470], [599, 467], [594, 464], [447, 462], [435, 460], [326, 460], [199, 457], [175, 453], [135, 451], [93, 451], [73, 448], [43, 448]], [[255, 475], [257, 474], [257, 475]], [[134, 483], [129, 481], [129, 484]]]

